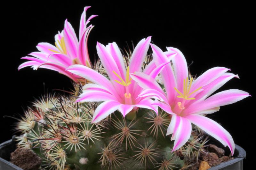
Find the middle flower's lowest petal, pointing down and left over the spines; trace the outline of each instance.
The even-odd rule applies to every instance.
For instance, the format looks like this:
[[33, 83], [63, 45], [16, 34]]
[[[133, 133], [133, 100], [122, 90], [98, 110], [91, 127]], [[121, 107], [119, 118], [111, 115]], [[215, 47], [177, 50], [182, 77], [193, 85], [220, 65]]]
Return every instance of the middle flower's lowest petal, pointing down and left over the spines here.
[[101, 103], [93, 114], [92, 123], [100, 122], [102, 119], [115, 112], [119, 106], [120, 103], [116, 101], [105, 101]]

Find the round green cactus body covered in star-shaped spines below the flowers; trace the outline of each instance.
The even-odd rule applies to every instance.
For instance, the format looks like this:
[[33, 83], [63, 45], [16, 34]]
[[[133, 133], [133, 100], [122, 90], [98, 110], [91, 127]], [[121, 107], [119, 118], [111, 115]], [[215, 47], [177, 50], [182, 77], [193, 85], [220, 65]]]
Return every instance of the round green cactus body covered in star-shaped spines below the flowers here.
[[204, 152], [207, 139], [196, 129], [186, 145], [171, 152], [173, 141], [165, 136], [171, 117], [163, 110], [156, 115], [139, 109], [132, 120], [116, 111], [92, 124], [96, 104], [75, 99], [45, 95], [16, 123], [17, 146], [36, 152], [42, 168], [180, 169]]

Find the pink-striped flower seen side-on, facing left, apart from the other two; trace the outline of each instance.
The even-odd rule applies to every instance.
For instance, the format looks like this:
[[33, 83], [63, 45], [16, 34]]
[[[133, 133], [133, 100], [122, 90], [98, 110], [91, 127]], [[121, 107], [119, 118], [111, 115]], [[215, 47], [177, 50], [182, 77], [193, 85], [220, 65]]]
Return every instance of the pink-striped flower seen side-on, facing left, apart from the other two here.
[[[31, 66], [34, 70], [39, 67], [58, 71], [74, 80], [75, 82], [81, 81], [78, 76], [72, 75], [70, 72], [65, 71], [70, 65], [82, 64], [91, 67], [91, 62], [88, 54], [88, 35], [93, 28], [92, 25], [86, 27], [90, 20], [97, 15], [90, 16], [85, 19], [85, 12], [90, 6], [84, 7], [79, 28], [79, 41], [76, 33], [68, 22], [65, 20], [64, 29], [55, 35], [55, 46], [47, 42], [40, 42], [36, 46], [39, 51], [32, 52], [21, 59], [29, 60], [20, 64], [18, 70]], [[82, 80], [83, 81], [83, 80]]]

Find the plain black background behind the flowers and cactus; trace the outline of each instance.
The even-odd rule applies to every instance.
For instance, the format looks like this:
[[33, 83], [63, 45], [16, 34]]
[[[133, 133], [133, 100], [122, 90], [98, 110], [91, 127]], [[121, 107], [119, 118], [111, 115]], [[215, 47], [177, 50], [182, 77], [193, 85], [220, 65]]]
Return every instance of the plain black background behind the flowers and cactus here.
[[[221, 107], [209, 115], [220, 122], [233, 136], [236, 144], [247, 152], [244, 167], [253, 164], [255, 152], [255, 9], [252, 4], [187, 4], [157, 1], [75, 2], [40, 1], [20, 3], [12, 1], [2, 5], [1, 62], [2, 101], [0, 142], [12, 137], [14, 122], [4, 115], [22, 114], [34, 97], [52, 89], [72, 88], [71, 81], [57, 72], [45, 69], [34, 71], [18, 66], [20, 58], [36, 51], [38, 42], [54, 43], [54, 35], [64, 27], [64, 20], [72, 24], [76, 33], [84, 6], [91, 5], [87, 16], [97, 14], [91, 23], [95, 25], [89, 37], [89, 53], [96, 55], [96, 41], [106, 45], [115, 41], [119, 48], [126, 41], [136, 44], [142, 38], [152, 36], [152, 41], [165, 50], [166, 46], [179, 48], [188, 64], [194, 62], [192, 75], [215, 67], [225, 66], [240, 79], [229, 81], [220, 90], [232, 88], [250, 92], [236, 104]], [[5, 8], [5, 12], [3, 12]], [[219, 90], [219, 91], [220, 91]]]

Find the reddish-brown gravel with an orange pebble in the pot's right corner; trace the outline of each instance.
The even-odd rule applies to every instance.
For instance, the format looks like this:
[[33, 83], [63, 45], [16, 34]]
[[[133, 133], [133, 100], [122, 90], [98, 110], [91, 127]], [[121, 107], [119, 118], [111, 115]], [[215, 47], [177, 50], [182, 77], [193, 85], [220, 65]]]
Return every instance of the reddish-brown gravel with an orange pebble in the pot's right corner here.
[[206, 149], [207, 154], [201, 154], [198, 161], [193, 162], [193, 165], [188, 170], [207, 170], [212, 166], [226, 162], [233, 157], [225, 156], [225, 151], [214, 144], [211, 144]]

